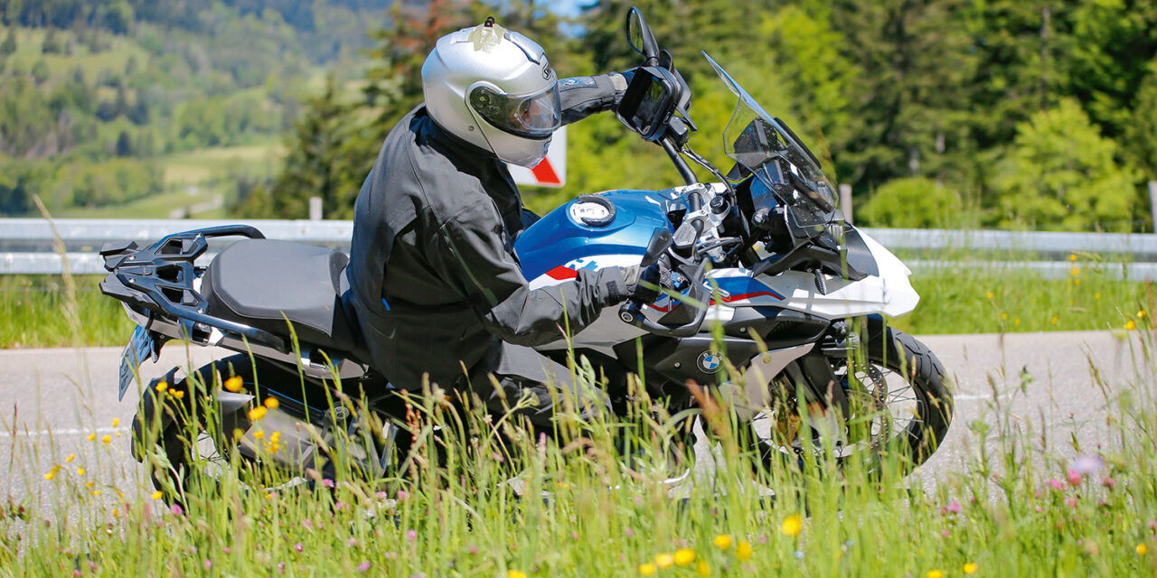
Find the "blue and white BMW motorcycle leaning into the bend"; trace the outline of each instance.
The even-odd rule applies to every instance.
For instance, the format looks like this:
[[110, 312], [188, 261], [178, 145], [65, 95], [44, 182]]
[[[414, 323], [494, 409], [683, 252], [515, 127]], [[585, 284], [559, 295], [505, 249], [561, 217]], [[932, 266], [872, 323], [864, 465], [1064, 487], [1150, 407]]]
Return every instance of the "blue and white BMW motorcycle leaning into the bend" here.
[[[581, 195], [528, 228], [516, 251], [532, 288], [566, 282], [578, 269], [658, 261], [670, 280], [656, 299], [609, 307], [569, 341], [539, 350], [562, 363], [573, 351], [597, 365], [616, 408], [629, 397], [631, 373], [644, 375], [653, 399], [672, 414], [725, 398], [765, 467], [801, 462], [821, 445], [841, 462], [885, 452], [908, 466], [926, 460], [948, 431], [952, 397], [935, 354], [884, 323], [920, 298], [909, 269], [843, 221], [816, 156], [706, 53], [738, 98], [723, 135], [735, 165], [723, 175], [692, 150], [690, 87], [634, 8], [626, 29], [646, 60], [617, 114], [663, 148], [686, 185]], [[717, 181], [699, 183], [687, 160]], [[242, 239], [200, 265], [216, 237]], [[361, 342], [340, 251], [231, 225], [146, 247], [109, 244], [101, 254], [110, 272], [102, 291], [138, 325], [119, 384], [121, 399], [134, 383], [141, 394], [134, 455], [143, 460], [160, 446], [176, 482], [202, 467], [190, 445], [206, 439], [288, 472], [331, 459], [358, 428], [348, 407], [333, 403], [337, 381], [366, 395], [381, 422], [404, 420], [389, 368], [371, 368]], [[174, 368], [147, 385], [135, 379], [171, 340], [237, 351], [194, 372], [219, 420], [201, 440], [182, 433], [184, 412], [159, 410], [192, 392], [190, 377]], [[260, 452], [258, 429], [280, 431], [286, 451]], [[391, 436], [364, 437], [368, 444], [347, 444], [346, 458], [386, 475], [397, 464]], [[154, 475], [159, 488], [161, 477]]]

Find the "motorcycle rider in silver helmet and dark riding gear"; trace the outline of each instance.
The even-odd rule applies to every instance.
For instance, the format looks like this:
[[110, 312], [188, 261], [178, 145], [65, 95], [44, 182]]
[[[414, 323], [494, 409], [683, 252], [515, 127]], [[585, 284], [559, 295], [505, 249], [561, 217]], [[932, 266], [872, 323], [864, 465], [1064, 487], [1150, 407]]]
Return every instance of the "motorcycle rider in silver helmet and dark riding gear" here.
[[[386, 136], [355, 205], [352, 301], [391, 384], [471, 387], [498, 413], [530, 392], [537, 405], [523, 414], [539, 428], [561, 393], [580, 409], [605, 405], [530, 347], [626, 299], [628, 269], [531, 290], [514, 240], [537, 217], [504, 163], [535, 166], [559, 126], [613, 109], [626, 87], [619, 73], [559, 81], [541, 46], [493, 17], [437, 40], [425, 103]], [[552, 398], [548, 384], [563, 390]]]

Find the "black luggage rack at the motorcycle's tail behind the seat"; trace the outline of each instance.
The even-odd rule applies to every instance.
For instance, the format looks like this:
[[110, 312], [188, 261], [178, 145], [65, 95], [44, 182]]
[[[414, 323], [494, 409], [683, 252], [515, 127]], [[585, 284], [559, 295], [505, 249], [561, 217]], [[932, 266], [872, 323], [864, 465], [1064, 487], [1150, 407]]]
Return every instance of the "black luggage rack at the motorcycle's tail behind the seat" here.
[[162, 314], [192, 341], [207, 341], [208, 327], [288, 353], [286, 341], [265, 329], [208, 314], [208, 302], [193, 289], [193, 280], [204, 269], [193, 261], [208, 249], [206, 239], [230, 236], [265, 238], [255, 227], [233, 224], [172, 234], [145, 249], [132, 240], [106, 243], [101, 257], [109, 275], [101, 281], [101, 292], [148, 316], [146, 328], [153, 325], [154, 316]]

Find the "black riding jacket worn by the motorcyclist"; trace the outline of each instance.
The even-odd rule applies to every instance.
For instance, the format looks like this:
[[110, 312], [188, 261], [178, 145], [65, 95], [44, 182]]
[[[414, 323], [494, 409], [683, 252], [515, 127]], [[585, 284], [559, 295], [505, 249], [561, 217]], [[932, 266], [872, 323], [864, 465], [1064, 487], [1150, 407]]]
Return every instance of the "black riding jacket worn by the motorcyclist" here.
[[[559, 82], [563, 123], [612, 109], [622, 77]], [[536, 346], [626, 298], [624, 271], [530, 290], [514, 240], [522, 198], [506, 164], [418, 106], [386, 136], [358, 195], [349, 277], [373, 364], [400, 387], [452, 386], [498, 366], [500, 340]]]

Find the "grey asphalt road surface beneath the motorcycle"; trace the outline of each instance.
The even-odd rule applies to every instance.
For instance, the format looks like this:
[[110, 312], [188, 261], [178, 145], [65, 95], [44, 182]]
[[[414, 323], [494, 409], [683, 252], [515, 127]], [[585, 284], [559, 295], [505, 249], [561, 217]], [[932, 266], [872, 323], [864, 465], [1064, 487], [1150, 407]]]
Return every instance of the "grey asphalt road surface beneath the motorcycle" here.
[[[1083, 451], [1110, 444], [1105, 430], [1108, 397], [1137, 383], [1142, 363], [1138, 333], [1066, 332], [1012, 335], [921, 338], [955, 381], [957, 410], [941, 451], [922, 468], [926, 484], [964, 472], [980, 440], [970, 424], [995, 423], [997, 415], [1033, 432], [1055, 450], [1074, 455], [1071, 436]], [[127, 424], [135, 393], [117, 400], [119, 348], [0, 351], [0, 501], [32, 495], [51, 509], [53, 484], [95, 482], [111, 494], [137, 494], [141, 470], [128, 453]], [[206, 363], [212, 350], [167, 348], [161, 362], [146, 364], [146, 377], [174, 364]], [[1096, 377], [1095, 377], [1096, 376]], [[1152, 372], [1147, 375], [1152, 379]], [[1098, 385], [1101, 384], [1101, 385]], [[994, 408], [1007, 408], [997, 412]], [[93, 433], [96, 438], [89, 440]], [[103, 443], [104, 436], [109, 442]], [[1054, 445], [1055, 444], [1055, 445]], [[75, 454], [73, 461], [66, 461]], [[60, 469], [45, 480], [54, 465]], [[76, 473], [84, 467], [84, 476]], [[931, 474], [931, 475], [928, 475]]]

